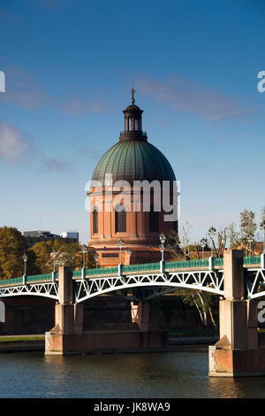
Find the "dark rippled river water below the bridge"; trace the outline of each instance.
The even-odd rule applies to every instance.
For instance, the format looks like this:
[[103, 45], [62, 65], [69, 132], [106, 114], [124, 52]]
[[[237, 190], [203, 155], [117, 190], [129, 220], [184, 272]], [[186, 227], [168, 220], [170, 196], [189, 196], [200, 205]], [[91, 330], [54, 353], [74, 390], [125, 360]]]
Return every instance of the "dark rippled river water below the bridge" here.
[[0, 354], [0, 397], [265, 397], [265, 377], [208, 378], [208, 352]]

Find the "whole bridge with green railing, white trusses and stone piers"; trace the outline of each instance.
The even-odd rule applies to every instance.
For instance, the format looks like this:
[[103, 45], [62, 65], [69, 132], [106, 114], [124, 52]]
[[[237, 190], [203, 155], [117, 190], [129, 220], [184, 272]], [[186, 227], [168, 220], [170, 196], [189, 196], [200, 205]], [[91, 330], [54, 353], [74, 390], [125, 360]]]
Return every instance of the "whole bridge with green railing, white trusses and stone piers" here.
[[[258, 328], [258, 304], [265, 297], [265, 254], [244, 257], [226, 250], [223, 258], [164, 261], [57, 273], [0, 281], [0, 298], [40, 296], [57, 300], [55, 327], [46, 333], [46, 354], [93, 351], [165, 351], [155, 297], [178, 289], [203, 290], [220, 297], [220, 341], [209, 347], [209, 375], [265, 374], [265, 340]], [[131, 302], [137, 331], [87, 334], [87, 299], [117, 293]], [[257, 364], [258, 363], [258, 364]]]

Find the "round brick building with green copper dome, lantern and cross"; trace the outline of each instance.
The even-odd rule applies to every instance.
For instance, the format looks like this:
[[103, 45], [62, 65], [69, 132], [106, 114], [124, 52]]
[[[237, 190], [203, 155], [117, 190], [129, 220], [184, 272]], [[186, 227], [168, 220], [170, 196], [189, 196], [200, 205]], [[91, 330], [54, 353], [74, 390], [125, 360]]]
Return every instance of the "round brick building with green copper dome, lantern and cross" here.
[[[165, 220], [163, 181], [172, 202], [176, 177], [170, 162], [142, 130], [142, 110], [134, 104], [125, 110], [125, 130], [119, 142], [102, 156], [92, 177], [90, 192], [90, 242], [100, 266], [136, 264], [161, 259], [161, 233], [178, 229], [178, 220]], [[122, 181], [122, 182], [121, 182]], [[140, 182], [151, 184], [140, 188]], [[152, 184], [156, 184], [154, 189]], [[140, 185], [140, 186], [139, 186]], [[157, 188], [158, 187], [158, 188]], [[150, 201], [144, 202], [143, 189]]]

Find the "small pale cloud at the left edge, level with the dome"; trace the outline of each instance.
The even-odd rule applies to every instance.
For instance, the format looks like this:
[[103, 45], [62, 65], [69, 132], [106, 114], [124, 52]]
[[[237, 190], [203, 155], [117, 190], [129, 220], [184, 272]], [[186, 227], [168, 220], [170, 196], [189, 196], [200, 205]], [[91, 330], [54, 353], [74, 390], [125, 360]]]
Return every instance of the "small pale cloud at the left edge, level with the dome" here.
[[17, 127], [0, 125], [0, 158], [6, 162], [18, 162], [31, 148], [30, 137], [22, 134]]

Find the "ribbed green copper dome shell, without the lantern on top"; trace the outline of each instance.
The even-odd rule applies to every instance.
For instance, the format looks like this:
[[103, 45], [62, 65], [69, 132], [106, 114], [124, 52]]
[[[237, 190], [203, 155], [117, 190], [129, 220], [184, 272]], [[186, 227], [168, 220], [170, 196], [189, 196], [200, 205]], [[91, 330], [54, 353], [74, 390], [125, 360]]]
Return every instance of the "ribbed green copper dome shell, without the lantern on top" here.
[[102, 156], [93, 174], [93, 181], [105, 180], [112, 173], [112, 181], [176, 181], [170, 162], [153, 144], [143, 140], [127, 140], [112, 146]]

